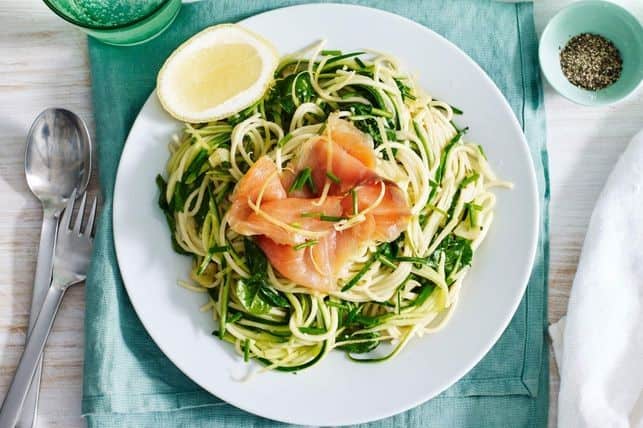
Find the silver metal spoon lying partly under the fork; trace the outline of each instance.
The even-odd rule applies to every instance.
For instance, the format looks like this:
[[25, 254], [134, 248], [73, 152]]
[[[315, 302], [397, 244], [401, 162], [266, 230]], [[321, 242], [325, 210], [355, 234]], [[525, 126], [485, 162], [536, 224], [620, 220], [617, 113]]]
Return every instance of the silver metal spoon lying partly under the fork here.
[[[42, 203], [42, 229], [36, 262], [29, 332], [51, 281], [58, 218], [74, 188], [81, 195], [91, 175], [92, 144], [83, 120], [69, 110], [49, 108], [38, 115], [27, 136], [25, 175]], [[25, 400], [18, 427], [36, 425], [42, 360]]]

